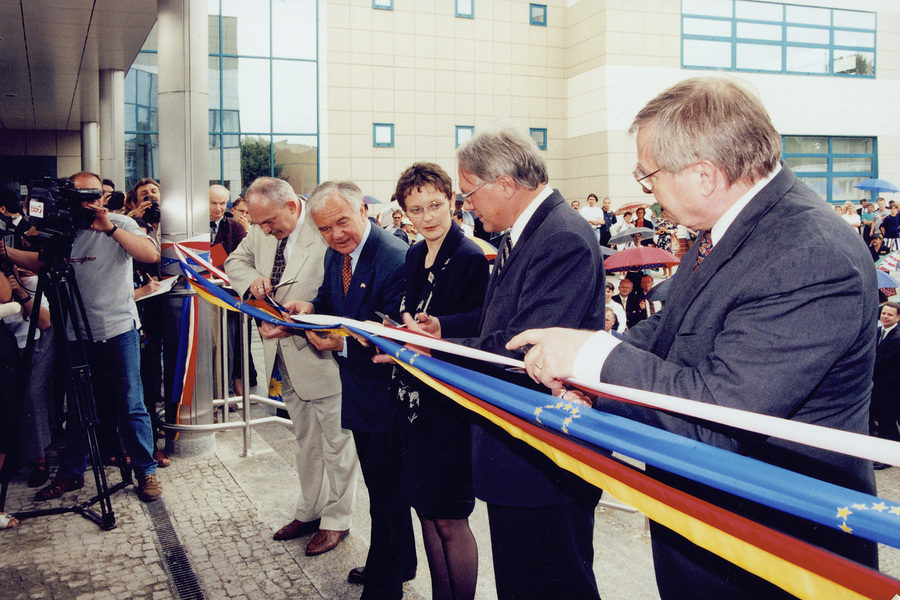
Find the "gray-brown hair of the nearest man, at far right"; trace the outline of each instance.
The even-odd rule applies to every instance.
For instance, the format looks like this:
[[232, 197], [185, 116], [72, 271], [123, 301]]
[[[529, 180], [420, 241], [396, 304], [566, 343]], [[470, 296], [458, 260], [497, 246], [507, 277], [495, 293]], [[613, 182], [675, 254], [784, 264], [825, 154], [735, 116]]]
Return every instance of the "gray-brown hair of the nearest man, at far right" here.
[[628, 132], [649, 125], [650, 153], [671, 173], [708, 160], [725, 171], [729, 183], [752, 183], [781, 158], [781, 136], [762, 102], [725, 77], [676, 83], [641, 109]]

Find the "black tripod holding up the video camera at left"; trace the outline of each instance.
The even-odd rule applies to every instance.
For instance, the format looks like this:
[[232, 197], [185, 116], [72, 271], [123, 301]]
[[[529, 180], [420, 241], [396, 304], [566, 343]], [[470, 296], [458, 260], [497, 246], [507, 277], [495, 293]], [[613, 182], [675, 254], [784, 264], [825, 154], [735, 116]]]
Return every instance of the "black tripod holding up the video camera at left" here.
[[[74, 512], [94, 521], [104, 531], [114, 529], [116, 517], [113, 513], [110, 497], [115, 492], [131, 485], [131, 469], [125, 464], [121, 447], [118, 450], [119, 471], [122, 481], [110, 487], [106, 479], [106, 471], [103, 468], [100, 444], [97, 435], [99, 418], [97, 404], [94, 397], [94, 389], [91, 385], [91, 371], [87, 359], [87, 342], [92, 342], [90, 326], [85, 315], [81, 292], [72, 266], [64, 261], [54, 261], [50, 266], [41, 267], [38, 276], [38, 287], [32, 305], [32, 315], [28, 330], [28, 344], [25, 349], [23, 365], [24, 372], [30, 371], [31, 355], [35, 341], [35, 331], [38, 322], [38, 311], [41, 306], [41, 298], [47, 296], [50, 304], [50, 319], [56, 331], [58, 342], [57, 356], [64, 357], [65, 367], [68, 373], [66, 378], [66, 392], [69, 402], [69, 418], [75, 419], [77, 413], [78, 422], [83, 433], [87, 436], [89, 459], [94, 474], [94, 482], [97, 486], [97, 494], [89, 500], [68, 507], [58, 507], [16, 513], [19, 519], [41, 517]], [[75, 332], [75, 341], [67, 341], [67, 324], [70, 324]], [[72, 408], [76, 410], [73, 411]], [[0, 503], [6, 498], [8, 481], [3, 481], [0, 490]], [[92, 508], [99, 503], [99, 513]]]

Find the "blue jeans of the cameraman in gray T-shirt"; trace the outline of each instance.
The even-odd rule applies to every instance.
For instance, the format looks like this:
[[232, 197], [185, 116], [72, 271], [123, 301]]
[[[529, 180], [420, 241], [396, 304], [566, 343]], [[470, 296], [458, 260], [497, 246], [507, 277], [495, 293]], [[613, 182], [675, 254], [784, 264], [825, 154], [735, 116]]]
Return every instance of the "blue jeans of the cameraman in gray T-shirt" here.
[[[132, 329], [104, 342], [86, 343], [86, 347], [97, 404], [111, 402], [115, 406], [119, 435], [137, 474], [156, 473], [153, 430], [150, 415], [144, 406], [144, 388], [141, 384], [138, 330]], [[60, 456], [57, 477], [78, 479], [87, 468], [87, 435], [81, 427], [74, 401], [69, 398], [68, 402], [66, 449]]]

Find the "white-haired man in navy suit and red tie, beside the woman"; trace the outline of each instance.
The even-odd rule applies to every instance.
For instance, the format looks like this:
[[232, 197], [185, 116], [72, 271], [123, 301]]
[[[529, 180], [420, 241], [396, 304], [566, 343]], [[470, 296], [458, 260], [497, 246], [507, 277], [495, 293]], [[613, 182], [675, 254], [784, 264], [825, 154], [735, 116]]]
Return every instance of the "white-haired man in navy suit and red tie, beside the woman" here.
[[[352, 182], [325, 182], [309, 197], [309, 212], [329, 249], [325, 279], [316, 298], [287, 305], [296, 312], [381, 322], [376, 312], [397, 315], [409, 246], [367, 218], [362, 191]], [[350, 572], [364, 583], [362, 598], [394, 600], [416, 570], [409, 504], [400, 493], [404, 414], [391, 393], [391, 370], [375, 364], [373, 347], [353, 337], [309, 333], [320, 351], [332, 351], [343, 385], [342, 425], [353, 432], [369, 490], [372, 536], [364, 568]]]

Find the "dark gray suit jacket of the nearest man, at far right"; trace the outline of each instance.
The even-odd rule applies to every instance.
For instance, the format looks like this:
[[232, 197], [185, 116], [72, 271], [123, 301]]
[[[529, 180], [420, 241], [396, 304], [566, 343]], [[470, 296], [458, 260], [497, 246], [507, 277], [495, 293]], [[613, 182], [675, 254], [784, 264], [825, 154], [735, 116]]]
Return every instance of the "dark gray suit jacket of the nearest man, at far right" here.
[[[625, 332], [627, 343], [610, 353], [601, 380], [868, 434], [877, 286], [862, 239], [783, 166], [693, 270], [696, 257], [695, 244], [681, 260], [665, 308]], [[851, 489], [875, 490], [865, 460], [626, 403], [598, 407]], [[685, 481], [676, 485], [705, 495]], [[837, 529], [755, 512], [738, 500], [723, 503], [860, 562], [874, 560], [873, 544]]]

